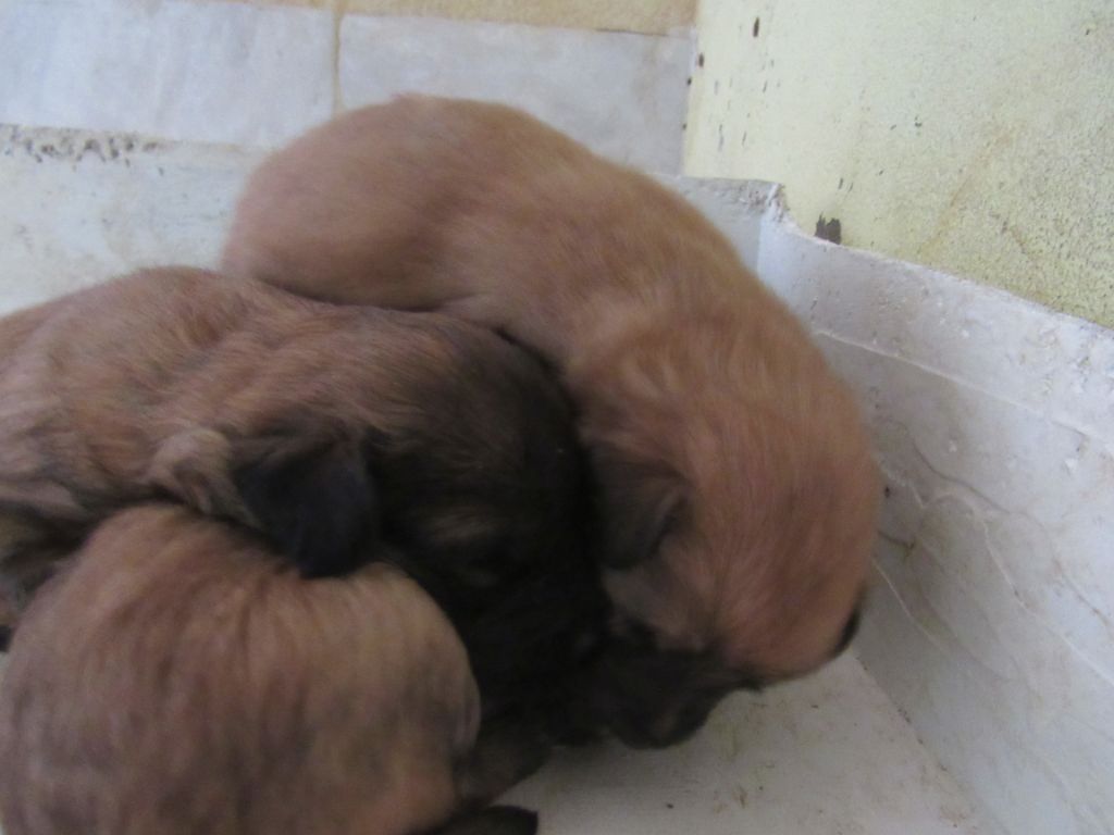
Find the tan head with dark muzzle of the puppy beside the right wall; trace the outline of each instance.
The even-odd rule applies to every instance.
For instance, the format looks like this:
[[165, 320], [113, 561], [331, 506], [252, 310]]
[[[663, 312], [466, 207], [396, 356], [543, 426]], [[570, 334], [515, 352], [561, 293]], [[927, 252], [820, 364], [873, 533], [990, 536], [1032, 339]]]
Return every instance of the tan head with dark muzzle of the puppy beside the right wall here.
[[[616, 612], [589, 700], [633, 745], [678, 741], [727, 692], [842, 651], [874, 541], [877, 469], [853, 402], [819, 356], [785, 351], [755, 371], [729, 355], [714, 369], [716, 346], [705, 347], [716, 385], [651, 400], [637, 432], [596, 439], [619, 512], [605, 576]], [[779, 362], [800, 367], [768, 373], [763, 391]], [[740, 366], [746, 394], [731, 391]], [[809, 382], [786, 392], [786, 376]], [[647, 449], [643, 438], [661, 440]]]

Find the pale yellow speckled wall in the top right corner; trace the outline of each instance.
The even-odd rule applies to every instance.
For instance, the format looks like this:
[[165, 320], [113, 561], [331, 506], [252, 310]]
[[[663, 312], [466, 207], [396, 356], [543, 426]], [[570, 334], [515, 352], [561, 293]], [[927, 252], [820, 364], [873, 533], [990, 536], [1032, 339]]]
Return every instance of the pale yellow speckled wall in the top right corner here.
[[702, 0], [697, 32], [688, 174], [1114, 326], [1114, 2]]

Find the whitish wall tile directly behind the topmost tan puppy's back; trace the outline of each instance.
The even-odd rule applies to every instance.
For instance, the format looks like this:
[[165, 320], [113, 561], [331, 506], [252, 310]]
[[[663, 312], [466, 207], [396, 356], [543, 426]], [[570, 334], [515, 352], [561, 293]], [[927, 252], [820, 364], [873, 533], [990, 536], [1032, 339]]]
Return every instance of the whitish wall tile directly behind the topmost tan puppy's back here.
[[346, 17], [346, 107], [405, 90], [520, 107], [602, 154], [681, 168], [688, 38], [515, 23]]

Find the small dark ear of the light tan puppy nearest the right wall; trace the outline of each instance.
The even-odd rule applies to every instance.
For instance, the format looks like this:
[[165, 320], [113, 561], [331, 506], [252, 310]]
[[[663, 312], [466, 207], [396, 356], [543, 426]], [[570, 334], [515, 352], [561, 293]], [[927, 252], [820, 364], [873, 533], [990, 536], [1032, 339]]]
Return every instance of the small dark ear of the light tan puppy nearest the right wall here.
[[649, 559], [684, 509], [678, 477], [615, 460], [596, 464], [603, 563], [624, 569]]

